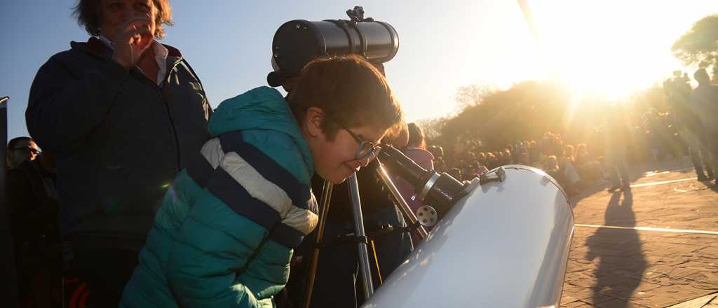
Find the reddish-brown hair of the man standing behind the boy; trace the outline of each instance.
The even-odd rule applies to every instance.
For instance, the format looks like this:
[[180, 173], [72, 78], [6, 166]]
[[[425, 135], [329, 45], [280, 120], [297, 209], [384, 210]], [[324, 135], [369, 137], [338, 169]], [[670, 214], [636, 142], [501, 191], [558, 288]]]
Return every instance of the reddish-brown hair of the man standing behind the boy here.
[[[85, 30], [92, 36], [100, 35], [100, 24], [102, 23], [102, 0], [79, 0], [73, 7], [73, 15], [78, 19], [78, 24], [85, 27]], [[169, 0], [152, 0], [157, 8], [157, 19], [154, 21], [154, 37], [164, 37], [163, 24], [172, 26], [172, 7]]]

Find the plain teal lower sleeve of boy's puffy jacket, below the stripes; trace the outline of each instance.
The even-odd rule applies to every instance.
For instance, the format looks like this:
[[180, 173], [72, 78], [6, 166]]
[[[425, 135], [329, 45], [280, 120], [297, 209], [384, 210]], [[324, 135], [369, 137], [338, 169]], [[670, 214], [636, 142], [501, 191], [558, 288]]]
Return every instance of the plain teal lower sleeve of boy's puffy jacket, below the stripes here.
[[266, 241], [266, 229], [208, 195], [192, 207], [170, 251], [172, 294], [181, 307], [258, 307], [236, 272]]

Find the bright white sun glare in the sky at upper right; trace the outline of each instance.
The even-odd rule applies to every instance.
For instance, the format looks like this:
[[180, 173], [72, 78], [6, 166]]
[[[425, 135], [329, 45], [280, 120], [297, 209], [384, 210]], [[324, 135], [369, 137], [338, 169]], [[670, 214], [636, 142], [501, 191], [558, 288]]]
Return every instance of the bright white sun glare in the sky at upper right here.
[[680, 69], [671, 44], [694, 21], [657, 1], [530, 4], [552, 75], [577, 92], [600, 91], [608, 100], [654, 85]]

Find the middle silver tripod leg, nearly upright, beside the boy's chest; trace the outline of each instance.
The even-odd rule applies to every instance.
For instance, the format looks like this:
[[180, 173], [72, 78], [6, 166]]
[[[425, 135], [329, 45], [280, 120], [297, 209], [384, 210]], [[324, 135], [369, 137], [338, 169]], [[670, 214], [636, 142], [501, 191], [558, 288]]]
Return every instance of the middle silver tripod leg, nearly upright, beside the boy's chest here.
[[352, 198], [352, 208], [354, 212], [354, 228], [355, 235], [359, 239], [364, 239], [359, 243], [359, 267], [362, 272], [362, 282], [364, 287], [364, 299], [369, 299], [374, 293], [374, 286], [371, 281], [371, 270], [369, 266], [369, 253], [367, 251], [366, 234], [364, 231], [364, 217], [361, 212], [361, 200], [359, 198], [359, 184], [357, 182], [357, 174], [354, 173], [348, 178], [349, 195]]

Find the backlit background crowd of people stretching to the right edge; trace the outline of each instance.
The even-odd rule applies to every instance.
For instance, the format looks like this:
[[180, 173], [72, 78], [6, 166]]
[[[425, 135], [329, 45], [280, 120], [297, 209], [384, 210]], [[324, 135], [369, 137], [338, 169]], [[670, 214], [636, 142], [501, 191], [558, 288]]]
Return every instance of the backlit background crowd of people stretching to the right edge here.
[[[451, 149], [429, 145], [434, 166], [460, 180], [470, 180], [501, 165], [530, 165], [545, 170], [574, 195], [600, 181], [608, 191], [630, 186], [626, 163], [643, 163], [689, 155], [699, 181], [715, 180], [718, 137], [716, 121], [718, 90], [705, 69], [694, 74], [699, 86], [690, 85], [688, 74], [674, 72], [663, 84], [666, 109], [649, 107], [643, 114], [623, 115], [612, 106], [612, 117], [584, 134], [584, 141], [568, 143], [556, 133], [537, 140], [522, 140], [503, 148], [487, 148], [479, 139], [437, 140]], [[440, 139], [441, 137], [437, 138]]]

